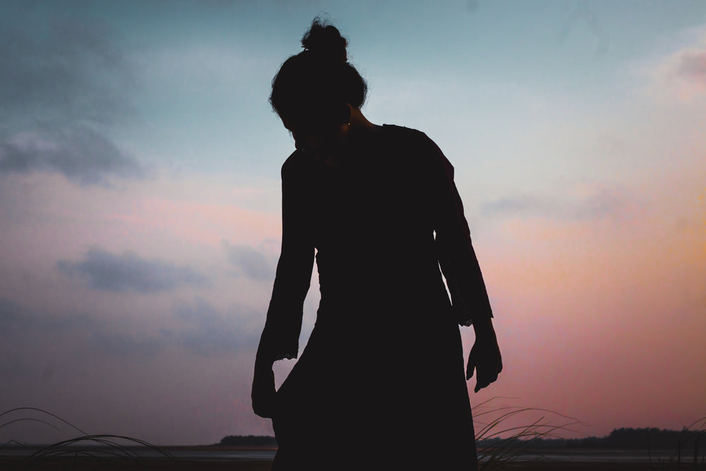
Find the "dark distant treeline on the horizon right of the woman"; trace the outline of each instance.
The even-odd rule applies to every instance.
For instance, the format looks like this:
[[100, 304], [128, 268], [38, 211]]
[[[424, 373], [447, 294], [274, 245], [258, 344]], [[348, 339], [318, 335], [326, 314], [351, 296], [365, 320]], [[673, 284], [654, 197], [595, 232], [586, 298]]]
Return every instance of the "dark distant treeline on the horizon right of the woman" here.
[[[501, 441], [513, 439], [484, 439], [479, 447], [490, 447]], [[517, 440], [520, 442], [520, 440]], [[518, 443], [520, 444], [520, 443]], [[694, 446], [706, 447], [706, 431], [646, 429], [614, 429], [608, 436], [589, 436], [585, 439], [531, 439], [522, 440], [523, 447], [532, 448], [640, 448], [683, 450]]]

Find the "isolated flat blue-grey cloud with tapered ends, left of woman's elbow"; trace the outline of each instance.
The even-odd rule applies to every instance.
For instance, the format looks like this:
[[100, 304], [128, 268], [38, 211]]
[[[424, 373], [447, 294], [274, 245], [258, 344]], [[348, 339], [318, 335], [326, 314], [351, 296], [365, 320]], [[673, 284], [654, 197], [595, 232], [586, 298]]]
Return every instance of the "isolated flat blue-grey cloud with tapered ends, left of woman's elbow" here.
[[184, 285], [202, 286], [208, 280], [189, 266], [142, 258], [131, 251], [110, 254], [93, 247], [80, 262], [59, 261], [57, 268], [88, 281], [94, 290], [150, 294]]

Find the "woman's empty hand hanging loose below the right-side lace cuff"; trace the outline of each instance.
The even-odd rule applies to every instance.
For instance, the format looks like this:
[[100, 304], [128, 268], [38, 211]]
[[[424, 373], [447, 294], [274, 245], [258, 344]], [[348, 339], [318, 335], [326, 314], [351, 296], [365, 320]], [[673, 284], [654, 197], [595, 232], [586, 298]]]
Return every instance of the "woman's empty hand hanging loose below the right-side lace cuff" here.
[[472, 378], [475, 369], [476, 387], [474, 392], [477, 393], [498, 379], [498, 374], [503, 371], [503, 359], [491, 319], [474, 321], [473, 328], [476, 340], [468, 354], [466, 379]]

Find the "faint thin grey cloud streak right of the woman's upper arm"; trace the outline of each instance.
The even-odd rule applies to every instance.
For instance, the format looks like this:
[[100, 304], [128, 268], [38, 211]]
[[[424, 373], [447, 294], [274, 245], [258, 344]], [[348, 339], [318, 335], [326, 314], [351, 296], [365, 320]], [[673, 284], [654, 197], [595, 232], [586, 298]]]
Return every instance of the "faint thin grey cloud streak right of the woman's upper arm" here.
[[551, 217], [564, 220], [622, 219], [638, 202], [626, 190], [602, 186], [578, 201], [534, 195], [512, 196], [481, 205], [486, 216]]

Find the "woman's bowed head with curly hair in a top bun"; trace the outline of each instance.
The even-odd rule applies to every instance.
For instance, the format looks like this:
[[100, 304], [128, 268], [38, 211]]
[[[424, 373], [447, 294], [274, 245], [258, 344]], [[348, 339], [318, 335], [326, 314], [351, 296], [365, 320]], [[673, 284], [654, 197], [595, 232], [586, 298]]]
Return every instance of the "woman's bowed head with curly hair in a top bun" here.
[[291, 131], [328, 133], [360, 108], [368, 85], [347, 62], [347, 40], [318, 18], [301, 38], [304, 51], [289, 57], [272, 81], [270, 103]]

